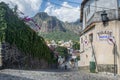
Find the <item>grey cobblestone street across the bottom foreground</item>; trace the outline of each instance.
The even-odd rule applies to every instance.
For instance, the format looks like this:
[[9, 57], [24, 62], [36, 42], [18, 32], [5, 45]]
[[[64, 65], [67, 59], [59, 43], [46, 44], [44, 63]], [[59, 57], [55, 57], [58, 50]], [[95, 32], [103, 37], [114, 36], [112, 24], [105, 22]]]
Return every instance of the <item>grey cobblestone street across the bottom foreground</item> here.
[[83, 71], [5, 69], [0, 71], [0, 80], [120, 80], [120, 76], [91, 74]]

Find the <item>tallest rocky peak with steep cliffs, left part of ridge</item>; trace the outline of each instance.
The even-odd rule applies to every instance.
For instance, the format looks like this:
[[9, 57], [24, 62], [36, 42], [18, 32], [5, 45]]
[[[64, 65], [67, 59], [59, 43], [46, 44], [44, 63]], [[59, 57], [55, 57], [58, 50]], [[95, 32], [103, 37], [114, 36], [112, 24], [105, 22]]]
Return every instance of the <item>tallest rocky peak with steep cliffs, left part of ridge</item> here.
[[54, 16], [49, 16], [45, 12], [37, 13], [33, 17], [33, 19], [38, 25], [41, 26], [41, 32], [48, 33], [48, 32], [53, 32], [56, 30], [63, 31], [63, 32], [66, 31], [63, 26], [63, 22], [61, 22]]

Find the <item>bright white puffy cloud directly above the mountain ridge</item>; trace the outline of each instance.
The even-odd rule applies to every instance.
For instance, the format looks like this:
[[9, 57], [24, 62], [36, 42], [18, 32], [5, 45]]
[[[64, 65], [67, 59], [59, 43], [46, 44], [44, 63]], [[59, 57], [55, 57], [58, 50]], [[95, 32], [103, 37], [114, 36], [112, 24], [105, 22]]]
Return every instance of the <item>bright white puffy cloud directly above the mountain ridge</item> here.
[[58, 19], [64, 22], [65, 21], [74, 22], [77, 19], [79, 19], [80, 17], [79, 7], [72, 7], [67, 2], [64, 2], [62, 6], [65, 7], [56, 8], [51, 3], [48, 3], [45, 12], [47, 12], [51, 16], [56, 16]]

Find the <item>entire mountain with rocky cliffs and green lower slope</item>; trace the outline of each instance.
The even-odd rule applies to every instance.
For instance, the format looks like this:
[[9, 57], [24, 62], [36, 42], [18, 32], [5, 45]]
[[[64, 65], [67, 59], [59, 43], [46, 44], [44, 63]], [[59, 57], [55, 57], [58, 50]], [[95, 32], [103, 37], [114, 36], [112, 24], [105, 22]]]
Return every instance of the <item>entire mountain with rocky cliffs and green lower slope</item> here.
[[39, 35], [45, 39], [54, 40], [77, 40], [79, 41], [80, 21], [73, 23], [62, 22], [45, 12], [39, 12], [33, 20], [41, 26]]

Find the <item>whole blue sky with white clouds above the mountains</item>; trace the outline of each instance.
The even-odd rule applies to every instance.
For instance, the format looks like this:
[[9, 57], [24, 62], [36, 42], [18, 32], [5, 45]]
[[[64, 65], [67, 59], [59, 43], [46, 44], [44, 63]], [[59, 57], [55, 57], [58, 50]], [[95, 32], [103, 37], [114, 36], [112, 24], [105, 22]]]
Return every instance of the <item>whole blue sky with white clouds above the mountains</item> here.
[[18, 5], [19, 11], [26, 16], [34, 16], [37, 12], [46, 12], [61, 21], [74, 22], [79, 19], [82, 0], [0, 0], [9, 3], [10, 7]]

